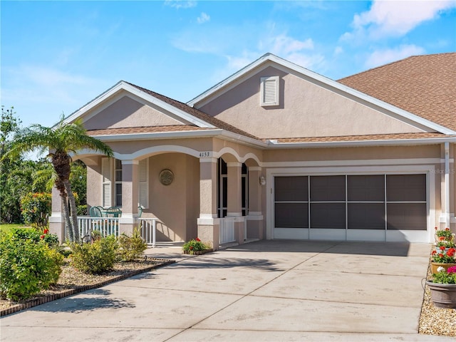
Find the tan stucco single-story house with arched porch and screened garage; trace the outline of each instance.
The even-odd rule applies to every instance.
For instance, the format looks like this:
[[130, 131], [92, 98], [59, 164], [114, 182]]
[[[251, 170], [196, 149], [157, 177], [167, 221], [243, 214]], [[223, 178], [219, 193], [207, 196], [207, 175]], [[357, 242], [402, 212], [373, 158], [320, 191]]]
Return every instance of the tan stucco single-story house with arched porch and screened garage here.
[[[157, 240], [431, 242], [456, 229], [456, 53], [333, 81], [270, 53], [189, 103], [120, 81], [66, 118], [110, 145], [80, 151], [89, 206]], [[63, 237], [54, 196], [51, 229]], [[138, 214], [138, 205], [142, 214]], [[138, 216], [141, 216], [138, 219]]]

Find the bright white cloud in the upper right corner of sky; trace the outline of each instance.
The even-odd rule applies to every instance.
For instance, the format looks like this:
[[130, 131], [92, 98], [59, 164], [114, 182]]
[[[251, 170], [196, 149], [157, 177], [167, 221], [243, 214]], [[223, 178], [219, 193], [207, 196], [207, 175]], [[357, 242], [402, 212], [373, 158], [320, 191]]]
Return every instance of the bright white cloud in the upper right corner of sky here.
[[353, 17], [353, 31], [343, 33], [341, 40], [378, 39], [403, 36], [425, 21], [437, 19], [443, 11], [456, 7], [454, 0], [386, 1], [375, 0], [371, 9]]

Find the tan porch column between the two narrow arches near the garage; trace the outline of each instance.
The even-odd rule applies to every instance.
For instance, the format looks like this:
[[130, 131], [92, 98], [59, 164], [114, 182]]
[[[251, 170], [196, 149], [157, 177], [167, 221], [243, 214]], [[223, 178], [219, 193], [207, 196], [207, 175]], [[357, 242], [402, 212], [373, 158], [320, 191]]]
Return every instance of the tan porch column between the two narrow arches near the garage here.
[[228, 191], [227, 216], [234, 220], [234, 236], [239, 244], [244, 243], [244, 218], [242, 217], [242, 163], [227, 162]]

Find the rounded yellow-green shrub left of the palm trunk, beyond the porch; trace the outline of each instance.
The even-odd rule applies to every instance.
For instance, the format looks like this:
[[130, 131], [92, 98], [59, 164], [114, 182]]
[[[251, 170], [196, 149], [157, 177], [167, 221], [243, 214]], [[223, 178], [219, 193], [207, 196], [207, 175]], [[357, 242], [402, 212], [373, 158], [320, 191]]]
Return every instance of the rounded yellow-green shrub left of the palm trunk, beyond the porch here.
[[26, 224], [36, 224], [38, 227], [46, 226], [51, 214], [51, 194], [28, 192], [21, 198], [21, 213]]

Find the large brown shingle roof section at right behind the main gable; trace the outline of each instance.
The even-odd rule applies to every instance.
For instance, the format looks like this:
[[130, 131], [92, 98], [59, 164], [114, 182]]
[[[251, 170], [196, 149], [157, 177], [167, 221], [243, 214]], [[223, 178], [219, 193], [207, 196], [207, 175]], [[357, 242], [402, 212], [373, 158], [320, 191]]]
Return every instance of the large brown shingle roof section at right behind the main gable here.
[[338, 82], [456, 130], [456, 53], [413, 56]]

